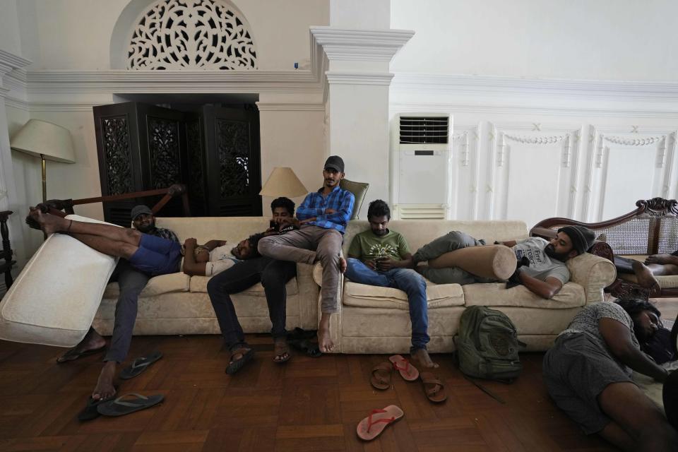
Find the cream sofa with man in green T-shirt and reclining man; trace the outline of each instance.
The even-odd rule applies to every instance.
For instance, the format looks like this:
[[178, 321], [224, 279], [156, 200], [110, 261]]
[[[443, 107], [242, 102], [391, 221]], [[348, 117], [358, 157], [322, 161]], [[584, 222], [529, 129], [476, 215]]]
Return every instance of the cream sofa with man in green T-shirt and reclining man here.
[[[347, 253], [352, 238], [367, 230], [367, 221], [352, 221], [344, 236]], [[524, 222], [393, 220], [389, 228], [403, 234], [414, 253], [420, 246], [450, 231], [463, 231], [477, 239], [513, 240], [528, 237]], [[528, 350], [547, 350], [558, 333], [585, 305], [600, 302], [603, 289], [614, 281], [612, 262], [593, 254], [568, 261], [571, 281], [553, 299], [542, 299], [524, 286], [506, 290], [505, 283], [436, 285], [427, 282], [430, 352], [451, 352], [453, 335], [465, 307], [484, 305], [503, 311], [515, 323]], [[314, 269], [316, 283], [321, 268]], [[333, 340], [342, 353], [394, 353], [410, 349], [410, 316], [405, 292], [345, 280], [338, 314], [332, 316]]]

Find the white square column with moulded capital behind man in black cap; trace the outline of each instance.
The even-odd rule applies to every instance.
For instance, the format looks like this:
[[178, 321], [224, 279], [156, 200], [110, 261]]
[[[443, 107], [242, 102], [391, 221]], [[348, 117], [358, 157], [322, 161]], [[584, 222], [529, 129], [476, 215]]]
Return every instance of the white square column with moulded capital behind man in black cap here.
[[370, 184], [361, 218], [369, 201], [391, 201], [388, 87], [393, 73], [388, 65], [412, 35], [410, 30], [311, 27], [311, 40], [328, 62], [328, 154], [343, 157], [347, 179]]

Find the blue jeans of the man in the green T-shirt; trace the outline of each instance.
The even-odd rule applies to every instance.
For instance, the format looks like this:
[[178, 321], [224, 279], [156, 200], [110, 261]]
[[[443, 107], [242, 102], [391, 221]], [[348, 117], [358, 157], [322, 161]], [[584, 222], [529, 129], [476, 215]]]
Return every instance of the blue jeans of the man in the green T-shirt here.
[[427, 333], [429, 316], [426, 304], [426, 281], [422, 275], [411, 268], [392, 268], [391, 270], [372, 270], [355, 258], [347, 259], [345, 276], [354, 283], [393, 287], [408, 294], [410, 302], [410, 321], [412, 322], [412, 347], [410, 352], [426, 349], [429, 343]]

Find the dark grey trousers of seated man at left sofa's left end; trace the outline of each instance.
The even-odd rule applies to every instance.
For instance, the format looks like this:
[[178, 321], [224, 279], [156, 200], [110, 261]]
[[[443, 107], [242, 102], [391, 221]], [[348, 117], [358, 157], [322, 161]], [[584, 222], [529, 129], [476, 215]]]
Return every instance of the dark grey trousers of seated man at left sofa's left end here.
[[139, 294], [146, 287], [150, 275], [133, 268], [129, 261], [120, 259], [113, 270], [109, 283], [118, 282], [120, 295], [115, 305], [115, 322], [111, 343], [104, 361], [123, 362], [129, 352]]

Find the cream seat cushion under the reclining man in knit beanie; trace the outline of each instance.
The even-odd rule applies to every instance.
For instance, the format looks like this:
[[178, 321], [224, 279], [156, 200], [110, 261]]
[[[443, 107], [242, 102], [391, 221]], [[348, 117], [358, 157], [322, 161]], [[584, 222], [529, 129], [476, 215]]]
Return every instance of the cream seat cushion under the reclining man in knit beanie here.
[[463, 286], [466, 306], [512, 306], [541, 309], [569, 309], [586, 303], [584, 288], [567, 283], [552, 299], [530, 292], [524, 285], [506, 289], [506, 283], [468, 284]]

